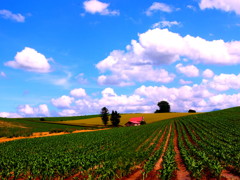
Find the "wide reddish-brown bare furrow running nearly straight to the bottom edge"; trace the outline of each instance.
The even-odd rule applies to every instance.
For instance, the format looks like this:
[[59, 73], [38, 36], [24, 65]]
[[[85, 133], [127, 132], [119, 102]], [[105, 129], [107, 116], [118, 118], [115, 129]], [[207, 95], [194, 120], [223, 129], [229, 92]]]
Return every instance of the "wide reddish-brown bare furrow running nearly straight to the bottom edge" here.
[[178, 167], [178, 170], [176, 171], [175, 179], [191, 180], [190, 173], [187, 171], [186, 166], [184, 165], [182, 157], [180, 155], [180, 151], [178, 147], [178, 132], [176, 128], [174, 130], [173, 143], [174, 143], [174, 151], [176, 153], [175, 161]]

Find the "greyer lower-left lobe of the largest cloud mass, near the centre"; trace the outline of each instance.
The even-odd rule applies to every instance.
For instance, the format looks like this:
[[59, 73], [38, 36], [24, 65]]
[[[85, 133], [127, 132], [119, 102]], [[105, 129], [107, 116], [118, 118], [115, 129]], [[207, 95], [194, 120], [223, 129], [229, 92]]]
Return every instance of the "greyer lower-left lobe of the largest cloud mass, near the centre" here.
[[126, 86], [134, 84], [133, 81], [145, 82], [163, 82], [168, 83], [175, 78], [174, 74], [165, 69], [153, 68], [151, 64], [143, 58], [138, 58], [133, 53], [124, 53], [123, 51], [113, 51], [96, 67], [101, 72], [110, 70], [112, 75], [102, 75], [98, 78], [99, 84]]

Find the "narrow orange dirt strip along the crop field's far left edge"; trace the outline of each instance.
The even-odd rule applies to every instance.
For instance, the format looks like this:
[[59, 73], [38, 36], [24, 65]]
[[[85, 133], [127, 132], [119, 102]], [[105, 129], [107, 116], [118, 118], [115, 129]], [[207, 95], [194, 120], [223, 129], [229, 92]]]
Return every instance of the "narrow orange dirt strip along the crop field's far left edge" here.
[[[76, 131], [73, 131], [72, 133], [102, 131], [102, 130], [107, 130], [107, 129], [110, 129], [110, 128], [93, 129], [93, 130], [76, 130]], [[14, 140], [18, 140], [18, 139], [30, 139], [30, 138], [39, 138], [39, 137], [48, 137], [48, 136], [59, 136], [59, 135], [72, 134], [72, 133], [68, 133], [68, 132], [60, 132], [60, 133], [35, 132], [31, 136], [28, 136], [28, 137], [23, 137], [23, 136], [13, 137], [13, 138], [3, 137], [3, 138], [0, 138], [0, 143], [8, 142], [8, 141], [14, 141]]]

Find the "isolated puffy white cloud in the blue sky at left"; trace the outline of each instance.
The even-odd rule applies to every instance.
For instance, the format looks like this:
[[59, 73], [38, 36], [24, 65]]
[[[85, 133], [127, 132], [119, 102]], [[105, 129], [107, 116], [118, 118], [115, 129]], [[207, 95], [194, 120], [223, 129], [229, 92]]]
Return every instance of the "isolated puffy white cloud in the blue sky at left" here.
[[25, 47], [24, 50], [16, 54], [14, 61], [8, 61], [5, 65], [26, 71], [47, 73], [51, 69], [48, 61], [43, 54], [35, 49]]

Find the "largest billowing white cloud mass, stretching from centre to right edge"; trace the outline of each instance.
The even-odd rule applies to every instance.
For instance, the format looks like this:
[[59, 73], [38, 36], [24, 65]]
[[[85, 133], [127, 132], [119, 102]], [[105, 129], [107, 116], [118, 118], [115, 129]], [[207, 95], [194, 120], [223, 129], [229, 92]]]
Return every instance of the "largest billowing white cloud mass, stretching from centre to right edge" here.
[[[114, 50], [96, 67], [101, 73], [99, 84], [128, 85], [137, 82], [171, 82], [175, 75], [160, 65], [171, 64], [187, 58], [193, 63], [231, 65], [240, 63], [240, 41], [207, 41], [201, 37], [182, 37], [168, 29], [152, 29], [139, 34], [139, 40], [132, 40], [126, 51]], [[194, 66], [179, 67], [181, 72], [189, 71], [197, 76]], [[185, 70], [184, 70], [185, 69]], [[190, 69], [190, 70], [189, 70]], [[193, 70], [193, 72], [190, 72]], [[108, 74], [107, 74], [108, 73]], [[110, 74], [109, 74], [110, 73]]]

